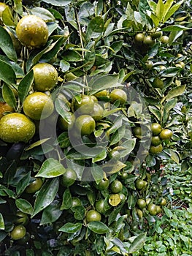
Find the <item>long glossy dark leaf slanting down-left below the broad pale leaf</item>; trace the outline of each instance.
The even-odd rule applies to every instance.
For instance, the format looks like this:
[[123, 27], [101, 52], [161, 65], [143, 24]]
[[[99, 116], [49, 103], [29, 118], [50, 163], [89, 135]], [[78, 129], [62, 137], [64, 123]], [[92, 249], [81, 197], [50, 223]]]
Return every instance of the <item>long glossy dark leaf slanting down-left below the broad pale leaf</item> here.
[[53, 202], [55, 195], [58, 192], [58, 187], [58, 178], [50, 178], [45, 182], [45, 184], [43, 184], [34, 202], [34, 212], [32, 217], [34, 217]]

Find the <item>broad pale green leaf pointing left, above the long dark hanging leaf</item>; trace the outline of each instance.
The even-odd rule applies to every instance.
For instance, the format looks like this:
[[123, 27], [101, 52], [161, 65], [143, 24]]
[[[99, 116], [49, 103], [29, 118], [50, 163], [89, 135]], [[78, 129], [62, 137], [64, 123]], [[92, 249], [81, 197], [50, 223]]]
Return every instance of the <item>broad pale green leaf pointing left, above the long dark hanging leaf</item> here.
[[49, 158], [43, 162], [42, 167], [35, 177], [44, 177], [44, 178], [55, 178], [61, 176], [66, 172], [64, 165], [61, 165], [58, 160]]

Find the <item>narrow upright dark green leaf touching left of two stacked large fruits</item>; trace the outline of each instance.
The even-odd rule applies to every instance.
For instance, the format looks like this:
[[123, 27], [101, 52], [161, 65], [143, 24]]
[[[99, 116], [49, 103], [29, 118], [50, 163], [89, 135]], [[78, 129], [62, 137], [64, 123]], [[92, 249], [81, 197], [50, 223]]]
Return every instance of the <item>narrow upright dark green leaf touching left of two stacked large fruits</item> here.
[[23, 103], [23, 101], [26, 99], [28, 95], [28, 91], [30, 91], [31, 86], [34, 82], [34, 71], [31, 69], [22, 80], [20, 80], [19, 86], [18, 86], [18, 95], [20, 98], [20, 102]]

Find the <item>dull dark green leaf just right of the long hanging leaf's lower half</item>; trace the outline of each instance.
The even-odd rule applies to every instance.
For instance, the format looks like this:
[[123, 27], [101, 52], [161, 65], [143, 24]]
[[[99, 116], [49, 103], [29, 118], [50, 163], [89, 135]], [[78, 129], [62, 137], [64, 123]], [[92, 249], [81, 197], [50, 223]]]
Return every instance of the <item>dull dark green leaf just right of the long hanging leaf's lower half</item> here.
[[55, 222], [62, 214], [59, 201], [54, 200], [42, 213], [40, 225], [50, 224]]

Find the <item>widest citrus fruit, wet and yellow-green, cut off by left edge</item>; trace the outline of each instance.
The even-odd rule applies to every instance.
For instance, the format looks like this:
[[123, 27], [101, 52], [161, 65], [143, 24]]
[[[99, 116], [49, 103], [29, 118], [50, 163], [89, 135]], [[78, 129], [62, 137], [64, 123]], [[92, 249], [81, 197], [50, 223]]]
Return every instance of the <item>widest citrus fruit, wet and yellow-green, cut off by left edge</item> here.
[[28, 142], [34, 133], [34, 123], [21, 113], [9, 113], [0, 120], [0, 138], [5, 142]]

